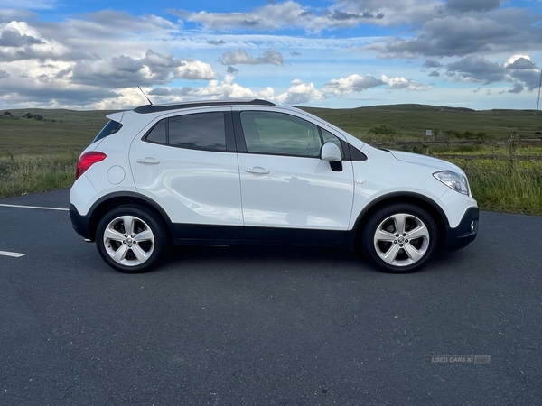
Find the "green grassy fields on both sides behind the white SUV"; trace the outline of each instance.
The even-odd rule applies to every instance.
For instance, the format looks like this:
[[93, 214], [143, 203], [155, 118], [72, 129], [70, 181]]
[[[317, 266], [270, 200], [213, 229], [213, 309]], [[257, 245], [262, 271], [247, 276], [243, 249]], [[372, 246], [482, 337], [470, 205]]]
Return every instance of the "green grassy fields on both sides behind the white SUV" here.
[[[542, 115], [534, 110], [474, 111], [439, 106], [372, 106], [354, 109], [308, 108], [365, 142], [425, 141], [432, 129], [438, 140], [542, 137]], [[110, 111], [23, 109], [0, 117], [0, 198], [69, 188], [79, 153], [107, 123]], [[3, 115], [0, 111], [0, 116]], [[23, 118], [40, 115], [42, 119]], [[436, 154], [508, 153], [505, 147], [435, 149]], [[412, 150], [421, 152], [421, 146]], [[520, 154], [542, 154], [540, 147]], [[469, 175], [481, 208], [542, 215], [542, 162], [453, 160]]]

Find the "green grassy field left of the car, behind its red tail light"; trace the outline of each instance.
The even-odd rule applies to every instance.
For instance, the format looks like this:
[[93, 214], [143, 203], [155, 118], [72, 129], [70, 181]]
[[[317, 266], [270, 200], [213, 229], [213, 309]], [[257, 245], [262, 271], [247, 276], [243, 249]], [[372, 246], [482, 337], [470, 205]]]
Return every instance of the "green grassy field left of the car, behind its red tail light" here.
[[[0, 198], [70, 188], [80, 152], [107, 123], [106, 111], [0, 111]], [[41, 115], [42, 120], [22, 118]]]

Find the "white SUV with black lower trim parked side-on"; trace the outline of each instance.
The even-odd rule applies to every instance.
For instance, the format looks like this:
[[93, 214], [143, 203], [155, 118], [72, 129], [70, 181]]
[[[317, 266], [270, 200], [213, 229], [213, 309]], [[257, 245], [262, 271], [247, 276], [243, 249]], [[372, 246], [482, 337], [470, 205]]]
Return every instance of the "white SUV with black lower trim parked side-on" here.
[[141, 106], [82, 152], [70, 190], [77, 233], [120, 272], [171, 245], [360, 247], [387, 272], [468, 245], [478, 207], [457, 166], [376, 149], [265, 100]]

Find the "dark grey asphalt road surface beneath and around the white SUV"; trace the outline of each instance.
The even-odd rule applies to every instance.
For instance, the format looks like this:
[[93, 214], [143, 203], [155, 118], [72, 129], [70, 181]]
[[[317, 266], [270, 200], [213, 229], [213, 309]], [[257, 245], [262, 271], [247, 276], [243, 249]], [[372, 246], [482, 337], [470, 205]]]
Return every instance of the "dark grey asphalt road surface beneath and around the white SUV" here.
[[481, 213], [472, 245], [408, 275], [277, 247], [182, 248], [126, 275], [67, 211], [0, 206], [0, 251], [25, 254], [0, 255], [0, 404], [540, 404], [541, 230]]

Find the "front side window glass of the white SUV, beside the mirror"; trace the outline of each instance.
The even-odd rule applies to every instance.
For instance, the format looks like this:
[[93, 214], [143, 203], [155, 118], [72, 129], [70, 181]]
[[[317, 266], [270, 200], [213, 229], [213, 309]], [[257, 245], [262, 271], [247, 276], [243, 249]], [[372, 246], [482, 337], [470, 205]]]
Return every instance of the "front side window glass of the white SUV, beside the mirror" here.
[[320, 156], [318, 127], [293, 115], [259, 111], [241, 113], [247, 151], [276, 155]]

